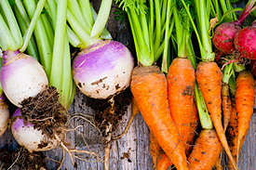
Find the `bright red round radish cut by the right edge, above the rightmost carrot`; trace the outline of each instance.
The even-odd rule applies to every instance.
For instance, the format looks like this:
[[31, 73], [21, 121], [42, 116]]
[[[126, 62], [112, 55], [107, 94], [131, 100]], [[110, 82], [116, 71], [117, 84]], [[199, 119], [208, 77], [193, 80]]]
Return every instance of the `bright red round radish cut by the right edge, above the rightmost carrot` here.
[[236, 50], [241, 58], [256, 59], [256, 28], [249, 26], [243, 28], [235, 36]]

